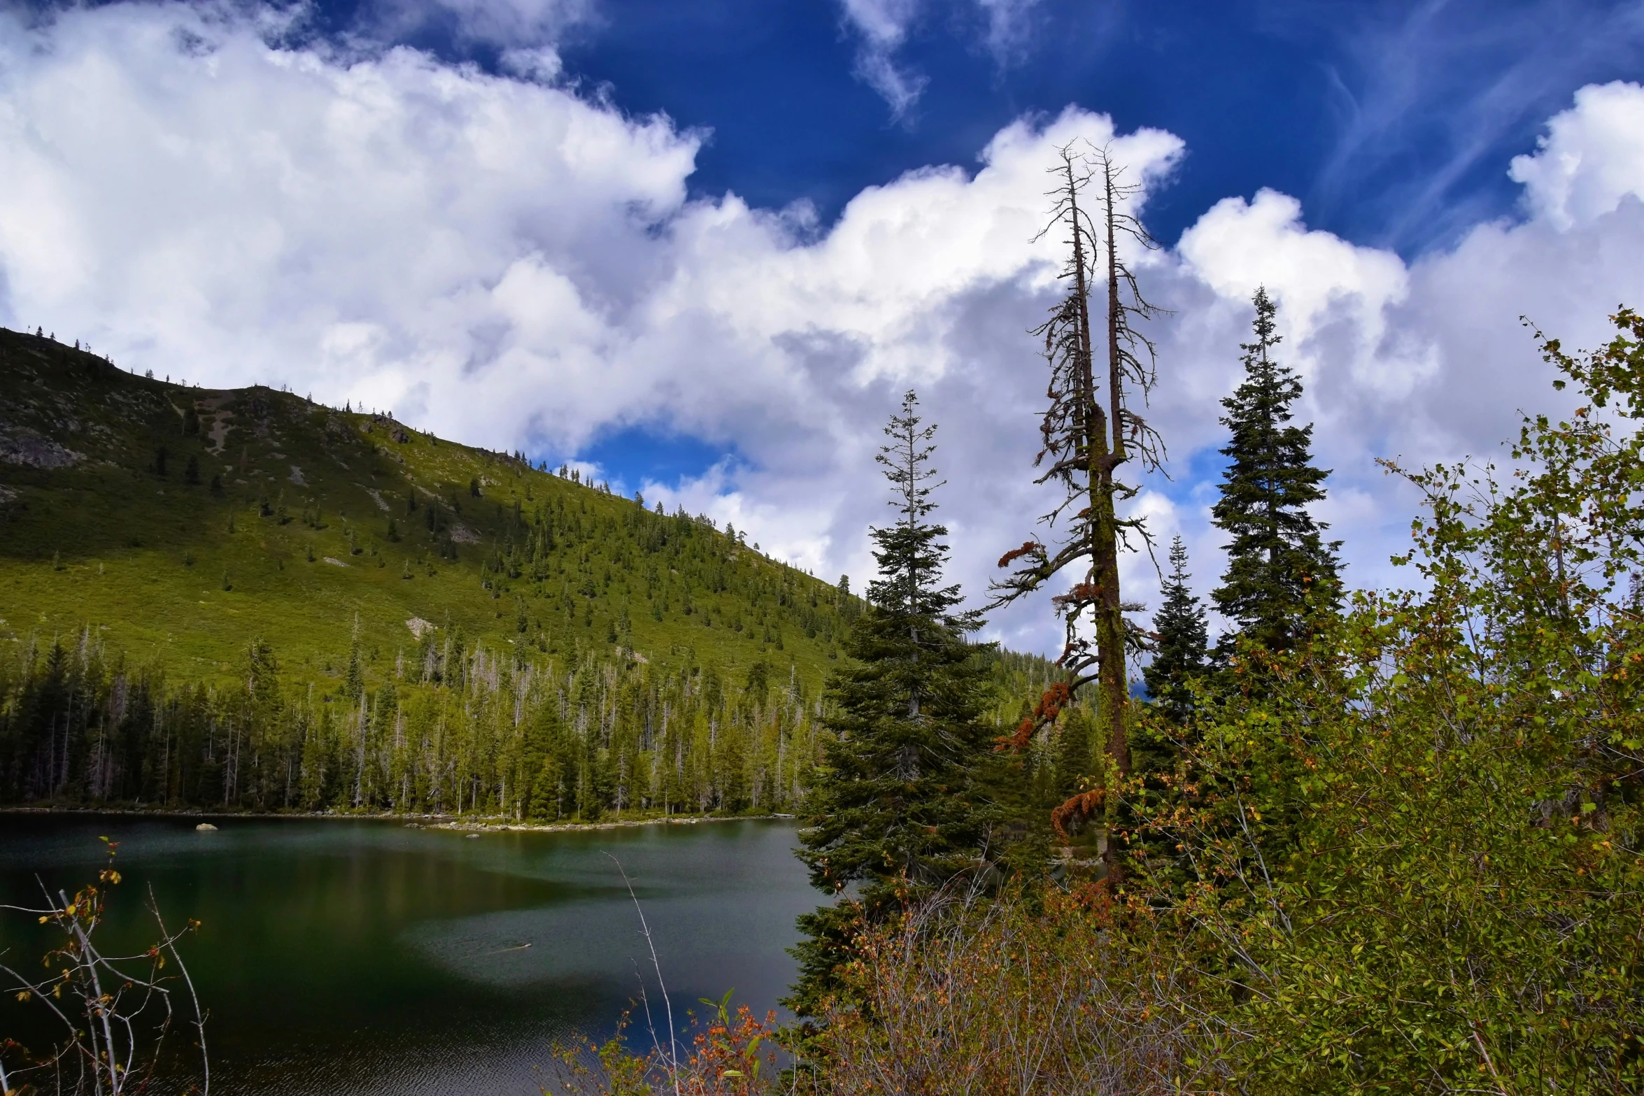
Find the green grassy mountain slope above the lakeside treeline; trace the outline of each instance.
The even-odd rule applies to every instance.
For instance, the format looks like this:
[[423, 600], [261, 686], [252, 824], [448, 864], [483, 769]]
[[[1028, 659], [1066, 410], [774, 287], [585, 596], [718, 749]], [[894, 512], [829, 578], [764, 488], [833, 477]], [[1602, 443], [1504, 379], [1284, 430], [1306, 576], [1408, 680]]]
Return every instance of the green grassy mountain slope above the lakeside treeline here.
[[[64, 463], [62, 450], [77, 458]], [[197, 485], [184, 481], [191, 457]], [[261, 516], [265, 500], [273, 516]], [[562, 504], [589, 536], [562, 534], [534, 570], [510, 578], [488, 564], [510, 539], [523, 547], [515, 503], [526, 519]], [[442, 531], [427, 527], [431, 506]], [[700, 523], [686, 529], [636, 509], [370, 414], [268, 388], [182, 388], [0, 329], [0, 642], [92, 626], [135, 662], [224, 680], [260, 636], [301, 680], [337, 672], [358, 618], [368, 674], [381, 679], [398, 652], [414, 657], [413, 618], [496, 647], [607, 656], [626, 608], [633, 649], [653, 662], [740, 672], [764, 657], [778, 674], [792, 664], [807, 682], [822, 679], [843, 624], [830, 585]], [[658, 547], [658, 531], [671, 547]], [[450, 550], [455, 560], [442, 557]], [[666, 606], [661, 621], [653, 605]]]

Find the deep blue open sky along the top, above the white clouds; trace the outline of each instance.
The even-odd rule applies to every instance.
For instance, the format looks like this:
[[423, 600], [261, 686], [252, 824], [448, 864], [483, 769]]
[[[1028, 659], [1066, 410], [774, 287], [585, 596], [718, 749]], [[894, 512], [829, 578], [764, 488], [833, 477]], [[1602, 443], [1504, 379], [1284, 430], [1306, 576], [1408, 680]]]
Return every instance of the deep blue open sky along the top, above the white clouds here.
[[[829, 222], [866, 186], [973, 164], [1013, 118], [1080, 104], [1187, 141], [1151, 209], [1164, 240], [1272, 187], [1314, 227], [1407, 256], [1511, 214], [1501, 164], [1577, 87], [1636, 79], [1644, 48], [1636, 0], [1041, 0], [1001, 5], [1018, 15], [998, 48], [980, 5], [906, 7], [894, 64], [924, 89], [903, 117], [857, 74], [863, 36], [832, 0], [602, 0], [552, 38], [625, 112], [712, 133], [694, 194], [807, 200]], [[337, 3], [316, 26], [380, 20]], [[449, 12], [388, 38], [490, 67], [510, 44]]]

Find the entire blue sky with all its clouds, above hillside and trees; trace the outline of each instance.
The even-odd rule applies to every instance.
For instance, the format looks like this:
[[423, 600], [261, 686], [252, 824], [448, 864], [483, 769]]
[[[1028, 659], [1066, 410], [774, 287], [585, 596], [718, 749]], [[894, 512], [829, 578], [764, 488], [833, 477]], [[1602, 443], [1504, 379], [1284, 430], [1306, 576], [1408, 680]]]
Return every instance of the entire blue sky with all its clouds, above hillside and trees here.
[[[1049, 508], [1046, 169], [1108, 146], [1171, 309], [1134, 513], [1217, 585], [1264, 284], [1317, 516], [1386, 587], [1419, 500], [1376, 460], [1499, 460], [1559, 406], [1519, 317], [1644, 304], [1641, 81], [1644, 0], [0, 0], [0, 324], [572, 462], [857, 588], [912, 388], [980, 605]], [[1046, 601], [986, 634], [1059, 646]]]

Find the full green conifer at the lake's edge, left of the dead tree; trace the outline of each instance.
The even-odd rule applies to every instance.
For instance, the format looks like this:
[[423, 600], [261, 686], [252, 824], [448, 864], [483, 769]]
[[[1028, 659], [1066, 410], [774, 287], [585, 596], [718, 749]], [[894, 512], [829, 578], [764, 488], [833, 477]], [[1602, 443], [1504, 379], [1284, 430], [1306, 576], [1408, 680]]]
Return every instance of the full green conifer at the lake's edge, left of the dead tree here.
[[868, 611], [847, 642], [852, 664], [829, 690], [835, 739], [810, 792], [809, 828], [799, 858], [819, 891], [840, 900], [799, 919], [809, 937], [794, 955], [801, 976], [789, 1007], [815, 1015], [838, 989], [858, 915], [871, 920], [904, 896], [942, 886], [975, 863], [981, 813], [967, 794], [986, 753], [981, 726], [985, 670], [965, 636], [981, 626], [957, 611], [958, 587], [942, 587], [947, 529], [931, 524], [929, 480], [935, 427], [921, 429], [914, 393], [903, 398], [880, 452], [899, 519], [873, 529], [880, 577], [868, 585]]

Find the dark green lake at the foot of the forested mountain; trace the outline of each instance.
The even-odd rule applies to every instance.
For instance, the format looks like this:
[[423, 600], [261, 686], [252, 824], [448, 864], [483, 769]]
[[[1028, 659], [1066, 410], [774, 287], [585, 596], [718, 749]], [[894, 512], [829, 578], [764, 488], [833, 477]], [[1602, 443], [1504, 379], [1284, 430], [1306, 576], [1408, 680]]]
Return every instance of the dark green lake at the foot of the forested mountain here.
[[[39, 905], [36, 874], [71, 891], [95, 879], [97, 836], [118, 841], [125, 881], [102, 943], [155, 938], [148, 887], [168, 923], [204, 922], [181, 950], [210, 1011], [217, 1093], [534, 1096], [554, 1040], [608, 1035], [641, 979], [663, 1029], [618, 863], [676, 1020], [727, 989], [761, 1015], [776, 1007], [794, 917], [819, 897], [783, 822], [478, 838], [388, 820], [196, 822], [0, 815], [0, 902]], [[33, 919], [0, 915], [7, 963], [38, 969], [43, 942]], [[38, 1020], [0, 999], [0, 1038], [35, 1042]], [[641, 1015], [635, 1040], [643, 1029]]]

